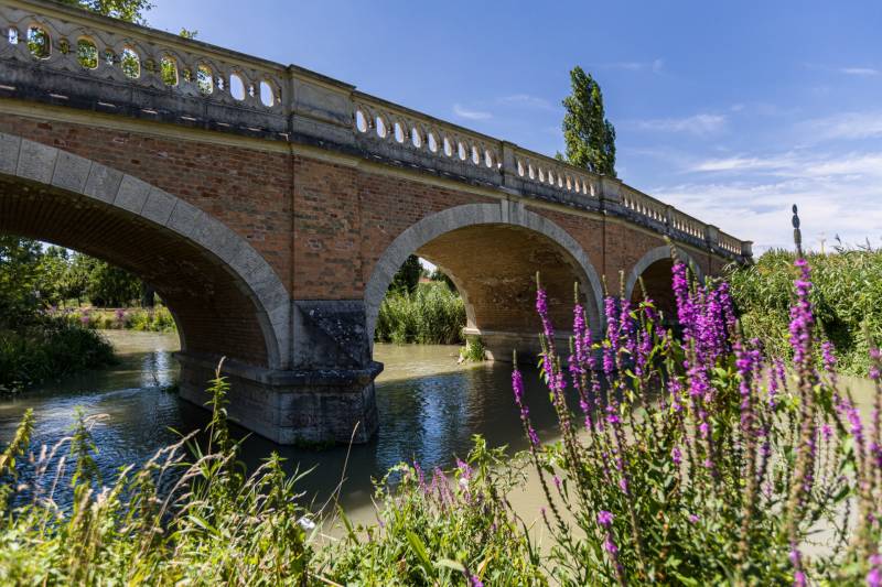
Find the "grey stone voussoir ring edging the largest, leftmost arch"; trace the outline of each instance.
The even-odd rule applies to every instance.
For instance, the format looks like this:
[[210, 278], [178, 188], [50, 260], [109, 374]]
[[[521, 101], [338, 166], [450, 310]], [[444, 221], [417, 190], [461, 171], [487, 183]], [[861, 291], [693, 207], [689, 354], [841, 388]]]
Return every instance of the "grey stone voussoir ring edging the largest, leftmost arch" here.
[[43, 183], [140, 216], [219, 259], [255, 304], [268, 367], [287, 367], [288, 291], [260, 253], [224, 224], [138, 177], [14, 134], [0, 133], [0, 174]]

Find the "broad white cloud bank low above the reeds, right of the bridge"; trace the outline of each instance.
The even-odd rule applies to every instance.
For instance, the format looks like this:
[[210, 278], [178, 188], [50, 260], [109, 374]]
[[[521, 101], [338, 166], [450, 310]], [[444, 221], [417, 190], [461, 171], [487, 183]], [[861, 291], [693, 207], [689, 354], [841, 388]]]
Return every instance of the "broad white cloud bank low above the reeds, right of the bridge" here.
[[[742, 154], [693, 163], [690, 181], [649, 191], [655, 197], [753, 240], [754, 250], [793, 247], [789, 206], [797, 204], [804, 241], [829, 247], [882, 244], [882, 152], [788, 151]], [[759, 175], [752, 175], [759, 173]]]

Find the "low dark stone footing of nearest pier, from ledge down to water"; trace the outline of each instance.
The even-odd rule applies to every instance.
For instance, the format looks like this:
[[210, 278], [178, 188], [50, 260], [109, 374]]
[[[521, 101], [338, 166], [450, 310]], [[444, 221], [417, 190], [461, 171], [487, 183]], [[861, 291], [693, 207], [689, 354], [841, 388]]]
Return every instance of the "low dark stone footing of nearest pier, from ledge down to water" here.
[[[181, 396], [205, 405], [218, 359], [178, 354]], [[280, 370], [224, 361], [229, 382], [227, 413], [233, 422], [270, 441], [366, 443], [377, 430], [374, 379], [383, 365], [362, 369]]]

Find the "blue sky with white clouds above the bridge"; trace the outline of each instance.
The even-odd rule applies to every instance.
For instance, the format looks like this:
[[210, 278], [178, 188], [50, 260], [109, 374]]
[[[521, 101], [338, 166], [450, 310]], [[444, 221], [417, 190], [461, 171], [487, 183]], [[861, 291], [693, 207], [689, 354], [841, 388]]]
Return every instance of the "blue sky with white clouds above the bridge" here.
[[149, 24], [553, 154], [569, 69], [619, 176], [756, 249], [882, 246], [882, 2], [154, 0]]

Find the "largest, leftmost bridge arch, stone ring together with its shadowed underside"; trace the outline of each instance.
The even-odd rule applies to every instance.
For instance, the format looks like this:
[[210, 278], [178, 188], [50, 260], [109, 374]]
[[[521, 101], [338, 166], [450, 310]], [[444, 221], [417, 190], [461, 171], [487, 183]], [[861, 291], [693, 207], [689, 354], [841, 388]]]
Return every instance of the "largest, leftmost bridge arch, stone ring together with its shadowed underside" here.
[[142, 278], [172, 311], [185, 357], [288, 366], [290, 296], [272, 268], [218, 220], [132, 175], [0, 133], [0, 231]]

